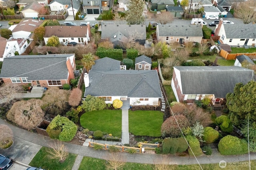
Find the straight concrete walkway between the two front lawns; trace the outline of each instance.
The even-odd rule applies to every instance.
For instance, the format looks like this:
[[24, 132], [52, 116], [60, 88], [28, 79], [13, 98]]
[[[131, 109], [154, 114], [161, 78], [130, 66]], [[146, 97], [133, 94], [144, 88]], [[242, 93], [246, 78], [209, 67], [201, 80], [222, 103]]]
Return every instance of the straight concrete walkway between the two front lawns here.
[[122, 144], [129, 144], [130, 136], [129, 136], [129, 116], [128, 110], [130, 108], [130, 100], [123, 100], [122, 109]]

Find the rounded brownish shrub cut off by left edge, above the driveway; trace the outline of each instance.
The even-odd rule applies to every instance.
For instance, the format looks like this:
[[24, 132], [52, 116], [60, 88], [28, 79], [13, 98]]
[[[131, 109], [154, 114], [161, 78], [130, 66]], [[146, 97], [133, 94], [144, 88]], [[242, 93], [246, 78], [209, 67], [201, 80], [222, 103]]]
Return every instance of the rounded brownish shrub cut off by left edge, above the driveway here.
[[8, 148], [12, 145], [12, 129], [7, 125], [0, 125], [0, 148]]

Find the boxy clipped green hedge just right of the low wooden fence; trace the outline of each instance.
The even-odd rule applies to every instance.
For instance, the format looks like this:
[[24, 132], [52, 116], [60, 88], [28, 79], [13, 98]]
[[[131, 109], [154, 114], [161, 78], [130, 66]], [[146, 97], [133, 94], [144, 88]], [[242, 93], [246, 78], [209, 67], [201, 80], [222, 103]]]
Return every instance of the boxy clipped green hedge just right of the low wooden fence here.
[[164, 154], [182, 153], [188, 149], [188, 144], [184, 138], [165, 138], [162, 149]]

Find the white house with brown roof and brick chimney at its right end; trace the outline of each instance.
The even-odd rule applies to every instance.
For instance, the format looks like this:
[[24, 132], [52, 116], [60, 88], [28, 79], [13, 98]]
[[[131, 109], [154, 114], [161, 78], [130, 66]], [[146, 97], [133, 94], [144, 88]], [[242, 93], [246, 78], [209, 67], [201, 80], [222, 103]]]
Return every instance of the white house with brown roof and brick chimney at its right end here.
[[70, 42], [88, 44], [90, 41], [90, 23], [87, 26], [45, 26], [44, 42], [51, 36], [57, 36], [65, 45]]

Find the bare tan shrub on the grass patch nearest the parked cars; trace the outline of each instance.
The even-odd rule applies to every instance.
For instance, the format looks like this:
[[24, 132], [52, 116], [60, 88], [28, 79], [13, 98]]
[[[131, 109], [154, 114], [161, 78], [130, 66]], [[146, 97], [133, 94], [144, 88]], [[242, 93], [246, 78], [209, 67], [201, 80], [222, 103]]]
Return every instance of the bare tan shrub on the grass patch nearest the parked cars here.
[[68, 149], [62, 142], [54, 142], [49, 145], [51, 148], [47, 150], [50, 159], [56, 159], [59, 162], [64, 162], [68, 157]]

